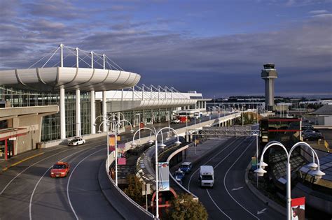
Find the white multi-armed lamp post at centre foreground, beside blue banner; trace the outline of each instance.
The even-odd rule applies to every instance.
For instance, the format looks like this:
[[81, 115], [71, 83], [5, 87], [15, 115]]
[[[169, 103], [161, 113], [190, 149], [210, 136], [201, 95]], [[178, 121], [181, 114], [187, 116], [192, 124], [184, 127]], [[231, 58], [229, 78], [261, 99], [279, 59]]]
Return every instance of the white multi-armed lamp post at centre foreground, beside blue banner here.
[[[158, 134], [161, 133], [162, 135], [162, 130], [164, 129], [170, 129], [172, 131], [174, 131], [174, 133], [177, 135], [177, 141], [174, 142], [175, 145], [181, 145], [181, 142], [179, 141], [179, 135], [177, 133], [177, 131], [175, 131], [174, 129], [172, 129], [171, 127], [164, 127], [162, 129], [160, 129], [159, 131], [154, 131], [152, 129], [149, 129], [149, 128], [141, 128], [139, 130], [137, 130], [134, 135], [132, 136], [132, 147], [134, 146], [137, 146], [137, 143], [134, 141], [134, 138], [135, 138], [135, 135], [137, 134], [137, 132], [139, 132], [140, 130], [143, 130], [143, 129], [146, 129], [146, 130], [149, 130], [151, 133], [153, 133], [155, 135], [155, 217], [157, 219], [159, 219], [159, 184], [158, 184]], [[161, 145], [159, 145], [160, 147], [164, 145], [164, 143], [162, 142]], [[164, 145], [166, 146], [166, 145]]]

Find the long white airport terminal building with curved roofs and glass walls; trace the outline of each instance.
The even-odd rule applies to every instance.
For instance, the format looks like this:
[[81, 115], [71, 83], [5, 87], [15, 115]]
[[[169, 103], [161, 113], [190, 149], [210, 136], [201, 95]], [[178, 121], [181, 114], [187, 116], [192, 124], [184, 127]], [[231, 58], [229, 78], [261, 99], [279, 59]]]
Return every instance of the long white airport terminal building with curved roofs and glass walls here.
[[[0, 159], [35, 149], [39, 142], [95, 135], [105, 120], [99, 115], [121, 112], [138, 126], [139, 119], [144, 124], [166, 122], [177, 110], [205, 112], [209, 101], [195, 91], [138, 87], [141, 75], [93, 68], [93, 60], [91, 67], [64, 67], [61, 62], [0, 71]], [[106, 131], [106, 123], [101, 130]]]

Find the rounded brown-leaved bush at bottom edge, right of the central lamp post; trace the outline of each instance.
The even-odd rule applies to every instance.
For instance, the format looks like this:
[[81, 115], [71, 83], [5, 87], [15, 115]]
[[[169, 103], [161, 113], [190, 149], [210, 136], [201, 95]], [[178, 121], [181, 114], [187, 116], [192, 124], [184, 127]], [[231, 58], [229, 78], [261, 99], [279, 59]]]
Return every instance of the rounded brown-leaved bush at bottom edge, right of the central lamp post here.
[[207, 219], [207, 210], [200, 201], [193, 200], [190, 194], [179, 194], [171, 201], [169, 219]]

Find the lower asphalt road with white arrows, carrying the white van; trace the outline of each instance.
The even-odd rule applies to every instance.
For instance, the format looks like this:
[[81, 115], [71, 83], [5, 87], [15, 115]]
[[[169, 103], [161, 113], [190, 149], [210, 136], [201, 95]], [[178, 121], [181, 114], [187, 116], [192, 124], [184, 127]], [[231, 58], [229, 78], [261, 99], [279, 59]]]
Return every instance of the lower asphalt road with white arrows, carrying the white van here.
[[[255, 152], [256, 138], [230, 138], [195, 164], [184, 186], [200, 198], [209, 219], [284, 219], [251, 193], [245, 183], [245, 170]], [[198, 184], [202, 165], [214, 167], [213, 189], [202, 189]]]

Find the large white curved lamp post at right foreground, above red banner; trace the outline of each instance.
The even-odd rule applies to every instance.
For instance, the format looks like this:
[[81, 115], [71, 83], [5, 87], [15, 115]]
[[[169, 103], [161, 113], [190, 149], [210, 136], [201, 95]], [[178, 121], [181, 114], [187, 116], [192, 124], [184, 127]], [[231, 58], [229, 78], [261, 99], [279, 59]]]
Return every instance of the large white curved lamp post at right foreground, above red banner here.
[[[301, 145], [304, 145], [305, 147], [309, 147], [312, 151], [312, 163], [309, 163], [308, 166], [310, 167], [311, 170], [314, 170], [314, 172], [312, 173], [317, 179], [320, 179], [321, 176], [325, 175], [325, 173], [321, 172], [320, 168], [319, 168], [319, 158], [316, 154], [316, 152], [314, 152], [314, 149], [312, 149], [312, 147], [310, 145], [308, 145], [306, 142], [297, 142], [295, 145], [293, 145], [293, 147], [291, 147], [290, 151], [287, 152], [287, 149], [284, 145], [282, 145], [282, 143], [277, 142], [277, 141], [272, 141], [272, 142], [268, 142], [267, 145], [265, 145], [263, 152], [261, 154], [261, 162], [259, 163], [259, 168], [255, 170], [255, 173], [257, 173], [257, 175], [259, 177], [262, 177], [264, 175], [264, 173], [266, 173], [266, 170], [264, 170], [265, 166], [268, 166], [268, 164], [263, 162], [263, 158], [264, 158], [264, 153], [266, 152], [266, 150], [272, 146], [279, 146], [282, 147], [282, 149], [284, 149], [284, 151], [286, 152], [287, 155], [287, 167], [286, 167], [286, 178], [287, 178], [287, 182], [286, 182], [286, 203], [287, 203], [287, 213], [286, 213], [286, 217], [287, 220], [291, 220], [291, 164], [289, 163], [290, 161], [290, 157], [291, 157], [291, 153], [293, 152], [293, 150], [296, 147], [299, 147]], [[318, 165], [316, 163], [314, 163], [314, 156], [316, 156]], [[316, 170], [316, 168], [318, 167], [318, 170]]]

